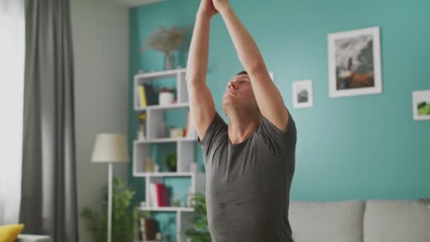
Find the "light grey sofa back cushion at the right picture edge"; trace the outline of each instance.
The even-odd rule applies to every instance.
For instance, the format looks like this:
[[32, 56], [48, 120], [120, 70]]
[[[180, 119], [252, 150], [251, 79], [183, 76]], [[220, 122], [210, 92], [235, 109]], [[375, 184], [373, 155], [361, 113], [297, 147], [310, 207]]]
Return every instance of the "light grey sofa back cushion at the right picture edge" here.
[[364, 242], [430, 241], [430, 205], [408, 200], [368, 200]]

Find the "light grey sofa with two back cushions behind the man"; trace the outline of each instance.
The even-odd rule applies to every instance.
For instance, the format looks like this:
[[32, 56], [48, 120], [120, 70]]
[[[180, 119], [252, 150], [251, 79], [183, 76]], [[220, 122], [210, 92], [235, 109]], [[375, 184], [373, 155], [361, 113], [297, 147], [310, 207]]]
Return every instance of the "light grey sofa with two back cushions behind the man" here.
[[430, 203], [412, 200], [291, 201], [295, 242], [429, 242]]

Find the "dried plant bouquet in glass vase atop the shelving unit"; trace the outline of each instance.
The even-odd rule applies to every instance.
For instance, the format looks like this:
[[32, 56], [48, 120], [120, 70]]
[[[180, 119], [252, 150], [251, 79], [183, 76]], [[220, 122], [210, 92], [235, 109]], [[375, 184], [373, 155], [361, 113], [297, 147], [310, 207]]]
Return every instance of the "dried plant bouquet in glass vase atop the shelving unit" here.
[[174, 52], [184, 43], [187, 32], [188, 31], [186, 29], [179, 28], [175, 25], [170, 28], [161, 26], [146, 38], [146, 45], [143, 50], [151, 49], [163, 52], [164, 69], [174, 69]]

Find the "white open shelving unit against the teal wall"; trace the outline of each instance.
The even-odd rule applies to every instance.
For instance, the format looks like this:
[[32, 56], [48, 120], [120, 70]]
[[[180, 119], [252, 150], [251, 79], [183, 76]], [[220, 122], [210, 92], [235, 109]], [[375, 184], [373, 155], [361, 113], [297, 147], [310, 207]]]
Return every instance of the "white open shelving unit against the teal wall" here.
[[[170, 71], [158, 71], [134, 76], [134, 111], [146, 112], [146, 139], [135, 140], [133, 142], [133, 175], [135, 177], [145, 178], [145, 201], [147, 207], [139, 207], [141, 211], [153, 212], [175, 212], [177, 216], [177, 241], [185, 242], [186, 238], [182, 231], [190, 227], [187, 223], [187, 217], [192, 216], [192, 207], [156, 207], [150, 204], [150, 183], [163, 183], [164, 178], [168, 177], [185, 177], [191, 179], [191, 193], [204, 192], [204, 173], [194, 173], [190, 171], [191, 163], [196, 162], [194, 159], [194, 142], [197, 141], [197, 134], [190, 127], [191, 137], [165, 138], [158, 137], [158, 131], [163, 128], [164, 113], [166, 110], [175, 108], [190, 108], [188, 103], [187, 83], [185, 80], [186, 69], [175, 69]], [[153, 83], [160, 79], [175, 78], [177, 90], [177, 102], [171, 105], [149, 105], [146, 108], [139, 107], [136, 98], [139, 85], [144, 83]], [[145, 159], [151, 158], [151, 144], [175, 143], [177, 152], [177, 171], [176, 172], [146, 172]]]

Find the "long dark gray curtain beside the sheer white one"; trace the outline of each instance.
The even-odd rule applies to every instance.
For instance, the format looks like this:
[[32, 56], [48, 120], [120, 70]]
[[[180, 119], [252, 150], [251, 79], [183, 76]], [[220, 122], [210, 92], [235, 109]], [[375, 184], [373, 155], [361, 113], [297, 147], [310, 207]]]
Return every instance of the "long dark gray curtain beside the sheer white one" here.
[[69, 0], [29, 0], [25, 9], [23, 177], [25, 234], [79, 241], [74, 67]]

